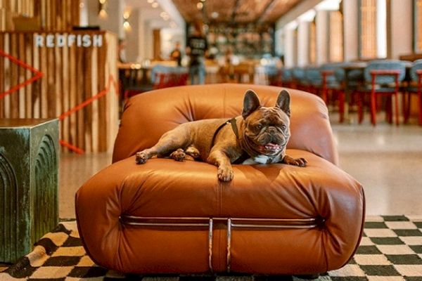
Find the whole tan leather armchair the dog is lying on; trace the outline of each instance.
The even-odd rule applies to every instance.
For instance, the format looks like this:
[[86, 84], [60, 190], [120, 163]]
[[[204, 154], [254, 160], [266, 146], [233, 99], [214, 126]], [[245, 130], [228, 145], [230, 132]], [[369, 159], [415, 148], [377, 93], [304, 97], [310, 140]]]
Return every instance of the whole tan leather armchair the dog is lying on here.
[[315, 274], [340, 268], [356, 251], [364, 192], [338, 166], [324, 102], [290, 90], [285, 164], [234, 165], [222, 183], [203, 162], [150, 159], [135, 152], [178, 124], [241, 114], [253, 89], [273, 106], [280, 88], [245, 84], [182, 86], [143, 93], [124, 109], [113, 164], [76, 195], [79, 234], [101, 266], [126, 273]]

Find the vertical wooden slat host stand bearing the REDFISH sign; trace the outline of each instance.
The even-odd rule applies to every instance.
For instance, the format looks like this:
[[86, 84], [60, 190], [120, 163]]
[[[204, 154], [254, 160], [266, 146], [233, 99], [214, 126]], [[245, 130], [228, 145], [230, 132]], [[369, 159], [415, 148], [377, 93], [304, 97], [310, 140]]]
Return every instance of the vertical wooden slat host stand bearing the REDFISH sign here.
[[[0, 32], [1, 50], [44, 74], [32, 84], [0, 98], [0, 118], [59, 117], [108, 87], [106, 96], [60, 122], [60, 139], [86, 152], [110, 150], [118, 120], [117, 89], [110, 83], [110, 77], [117, 81], [115, 34], [72, 32], [103, 35], [103, 46], [87, 48], [78, 47], [76, 42], [70, 47], [36, 47], [35, 34], [43, 32]], [[71, 33], [58, 34], [68, 36]], [[0, 56], [0, 93], [32, 76], [34, 74], [29, 70]]]

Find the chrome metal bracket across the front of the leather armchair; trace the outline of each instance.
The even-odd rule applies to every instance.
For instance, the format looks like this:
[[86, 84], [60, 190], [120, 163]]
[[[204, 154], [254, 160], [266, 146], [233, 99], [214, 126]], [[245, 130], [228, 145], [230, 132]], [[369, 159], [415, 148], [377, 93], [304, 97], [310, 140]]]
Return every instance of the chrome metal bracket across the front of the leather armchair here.
[[291, 228], [316, 228], [324, 223], [318, 218], [176, 218], [176, 217], [143, 217], [120, 216], [120, 221], [130, 226], [154, 227], [208, 227], [208, 266], [212, 268], [212, 233], [214, 221], [227, 223], [227, 272], [231, 268], [231, 232], [232, 228], [263, 228], [263, 229], [291, 229]]

